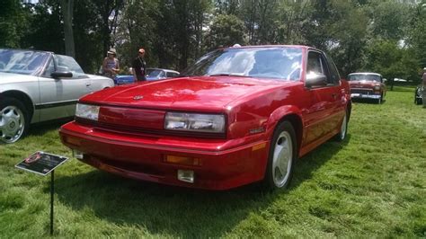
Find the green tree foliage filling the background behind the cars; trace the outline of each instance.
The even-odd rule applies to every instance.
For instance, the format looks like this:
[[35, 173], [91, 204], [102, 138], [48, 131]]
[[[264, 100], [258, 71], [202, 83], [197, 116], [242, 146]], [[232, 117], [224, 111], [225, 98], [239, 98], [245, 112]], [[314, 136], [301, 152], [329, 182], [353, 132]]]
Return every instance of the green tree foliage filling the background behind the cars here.
[[426, 66], [426, 0], [4, 0], [0, 47], [65, 54], [60, 3], [67, 1], [75, 58], [88, 72], [111, 47], [121, 66], [144, 48], [148, 66], [182, 70], [235, 43], [324, 49], [342, 75], [366, 70], [416, 81]]

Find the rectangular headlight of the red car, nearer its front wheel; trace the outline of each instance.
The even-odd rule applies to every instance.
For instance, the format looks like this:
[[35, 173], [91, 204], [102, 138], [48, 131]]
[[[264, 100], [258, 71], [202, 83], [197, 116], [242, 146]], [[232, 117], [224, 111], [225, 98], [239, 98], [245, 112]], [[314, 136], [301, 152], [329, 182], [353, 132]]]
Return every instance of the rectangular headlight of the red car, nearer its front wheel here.
[[164, 128], [194, 132], [225, 132], [225, 116], [221, 114], [196, 114], [167, 112]]

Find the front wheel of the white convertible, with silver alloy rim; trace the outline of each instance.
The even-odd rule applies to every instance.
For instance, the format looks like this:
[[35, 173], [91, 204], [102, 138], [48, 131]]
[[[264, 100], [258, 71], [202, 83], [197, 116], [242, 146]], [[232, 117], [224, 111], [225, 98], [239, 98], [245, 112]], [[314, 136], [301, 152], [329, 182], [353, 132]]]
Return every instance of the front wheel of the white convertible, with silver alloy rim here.
[[27, 109], [14, 98], [0, 102], [0, 143], [11, 144], [22, 138], [30, 127]]

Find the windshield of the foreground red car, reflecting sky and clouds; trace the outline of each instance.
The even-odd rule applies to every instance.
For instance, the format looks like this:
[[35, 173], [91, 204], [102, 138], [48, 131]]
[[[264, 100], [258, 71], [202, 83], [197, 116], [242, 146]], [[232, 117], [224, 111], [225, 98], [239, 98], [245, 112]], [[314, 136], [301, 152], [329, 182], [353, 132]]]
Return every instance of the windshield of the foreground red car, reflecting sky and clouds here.
[[200, 58], [182, 75], [232, 75], [296, 81], [300, 78], [302, 49], [218, 49]]

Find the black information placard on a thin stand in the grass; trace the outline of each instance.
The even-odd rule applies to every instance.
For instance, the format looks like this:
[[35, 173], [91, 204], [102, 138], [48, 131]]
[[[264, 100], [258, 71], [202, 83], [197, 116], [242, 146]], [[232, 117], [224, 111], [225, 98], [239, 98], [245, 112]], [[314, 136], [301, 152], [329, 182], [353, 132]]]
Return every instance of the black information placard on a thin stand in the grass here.
[[15, 167], [45, 176], [60, 164], [65, 163], [67, 159], [64, 156], [38, 151], [16, 164]]

